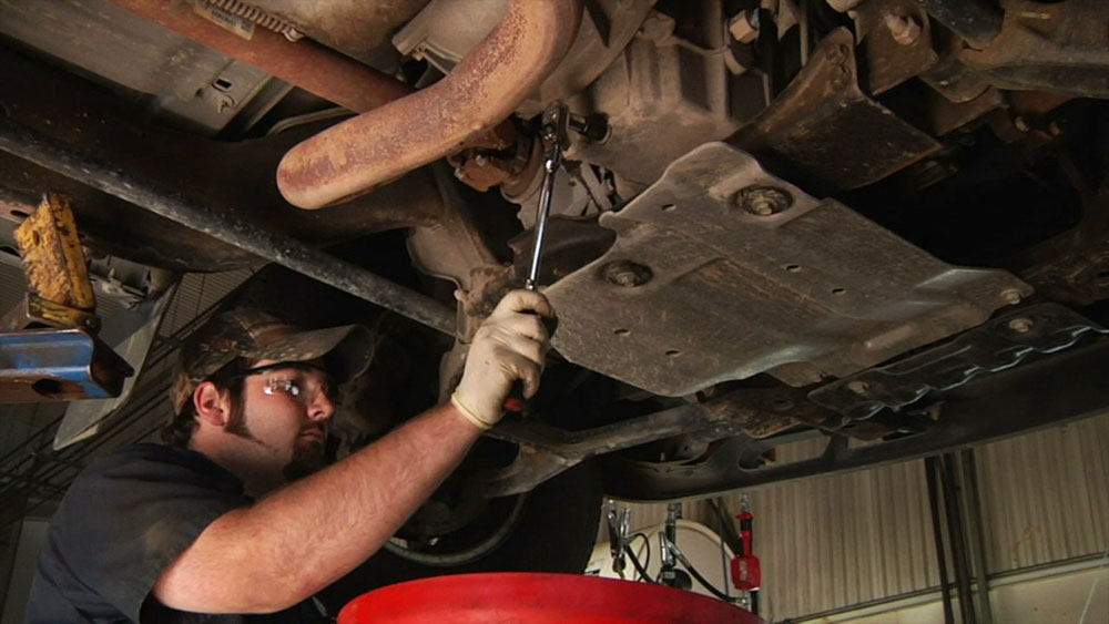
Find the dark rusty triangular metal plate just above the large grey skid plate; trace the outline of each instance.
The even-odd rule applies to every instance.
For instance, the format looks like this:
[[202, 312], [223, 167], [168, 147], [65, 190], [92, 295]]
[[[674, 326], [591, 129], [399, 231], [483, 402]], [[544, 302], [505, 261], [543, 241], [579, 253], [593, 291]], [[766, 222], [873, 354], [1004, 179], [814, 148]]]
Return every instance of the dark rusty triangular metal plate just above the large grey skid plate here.
[[858, 88], [854, 37], [825, 37], [779, 98], [731, 143], [821, 188], [857, 188], [939, 150]]

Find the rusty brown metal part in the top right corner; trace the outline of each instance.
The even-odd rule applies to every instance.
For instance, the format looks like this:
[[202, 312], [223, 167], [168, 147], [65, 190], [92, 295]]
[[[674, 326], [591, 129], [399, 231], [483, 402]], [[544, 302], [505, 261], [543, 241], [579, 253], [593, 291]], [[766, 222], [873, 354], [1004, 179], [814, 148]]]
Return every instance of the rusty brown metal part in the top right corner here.
[[1000, 34], [958, 59], [999, 89], [1109, 98], [1103, 0], [1006, 0]]

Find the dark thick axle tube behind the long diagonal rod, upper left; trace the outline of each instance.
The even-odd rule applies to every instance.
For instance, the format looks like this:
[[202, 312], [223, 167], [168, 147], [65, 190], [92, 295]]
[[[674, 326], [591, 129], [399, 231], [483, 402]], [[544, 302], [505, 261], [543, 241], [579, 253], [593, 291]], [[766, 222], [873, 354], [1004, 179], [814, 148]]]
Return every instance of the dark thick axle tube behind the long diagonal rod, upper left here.
[[[8, 48], [0, 48], [0, 83], [21, 85], [0, 92], [0, 106], [20, 125], [80, 145], [95, 160], [167, 195], [184, 193], [215, 213], [264, 219], [271, 231], [311, 245], [431, 225], [442, 209], [426, 171], [326, 213], [289, 206], [277, 192], [273, 172], [285, 151], [312, 127], [235, 143], [174, 132], [145, 123], [138, 111], [103, 89]], [[73, 196], [82, 235], [114, 256], [183, 270], [226, 270], [257, 263], [242, 249], [7, 153], [0, 153], [0, 171], [6, 172], [0, 196], [37, 197], [43, 188]]]

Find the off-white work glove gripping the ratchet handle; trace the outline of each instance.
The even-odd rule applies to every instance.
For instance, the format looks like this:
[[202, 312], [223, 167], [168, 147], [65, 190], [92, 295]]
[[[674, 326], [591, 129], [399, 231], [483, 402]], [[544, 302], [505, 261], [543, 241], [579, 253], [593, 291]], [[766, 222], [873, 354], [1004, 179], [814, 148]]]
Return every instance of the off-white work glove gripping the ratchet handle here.
[[477, 427], [489, 429], [500, 420], [516, 380], [523, 383], [525, 398], [539, 390], [550, 339], [540, 317], [554, 318], [547, 297], [512, 290], [475, 333], [450, 402]]

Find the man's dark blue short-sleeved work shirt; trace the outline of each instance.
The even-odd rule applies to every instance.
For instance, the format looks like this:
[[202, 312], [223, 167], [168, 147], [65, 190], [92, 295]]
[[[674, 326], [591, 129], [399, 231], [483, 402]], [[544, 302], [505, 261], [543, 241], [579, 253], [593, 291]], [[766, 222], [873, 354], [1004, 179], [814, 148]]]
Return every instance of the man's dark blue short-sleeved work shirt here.
[[96, 461], [51, 520], [28, 622], [326, 622], [311, 601], [272, 615], [205, 615], [151, 595], [212, 521], [251, 502], [237, 478], [195, 451], [135, 444]]

